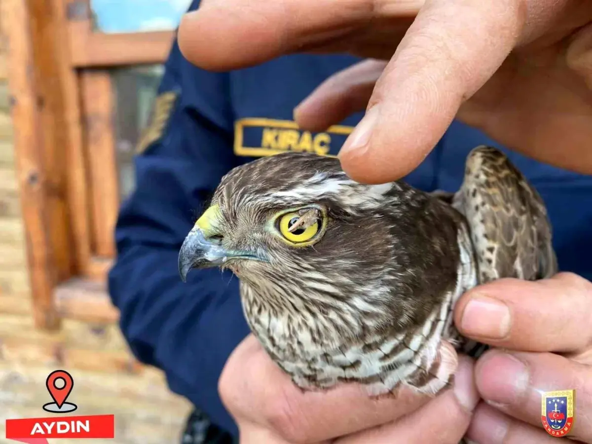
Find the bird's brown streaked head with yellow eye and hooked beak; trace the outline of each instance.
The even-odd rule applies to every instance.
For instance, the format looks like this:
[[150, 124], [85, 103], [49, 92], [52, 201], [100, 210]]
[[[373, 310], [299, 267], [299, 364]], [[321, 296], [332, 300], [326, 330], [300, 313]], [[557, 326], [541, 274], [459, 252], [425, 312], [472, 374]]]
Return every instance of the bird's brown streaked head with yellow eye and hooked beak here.
[[[255, 288], [348, 299], [388, 285], [398, 183], [359, 184], [339, 160], [309, 153], [263, 157], [231, 170], [179, 252], [192, 268], [228, 268]], [[384, 294], [384, 293], [383, 293]]]

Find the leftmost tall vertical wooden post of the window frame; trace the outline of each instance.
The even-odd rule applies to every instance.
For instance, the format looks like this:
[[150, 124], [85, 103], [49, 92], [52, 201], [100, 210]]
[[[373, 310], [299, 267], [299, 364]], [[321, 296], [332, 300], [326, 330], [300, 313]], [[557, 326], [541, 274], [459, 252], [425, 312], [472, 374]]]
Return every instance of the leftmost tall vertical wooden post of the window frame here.
[[[26, 233], [28, 271], [37, 326], [54, 329], [59, 318], [53, 306], [53, 287], [59, 276], [52, 237], [52, 189], [60, 182], [47, 176], [43, 149], [43, 121], [40, 88], [37, 85], [34, 51], [41, 38], [39, 24], [31, 25], [25, 0], [0, 2], [2, 29], [8, 37], [9, 88], [11, 115], [15, 127], [15, 163], [20, 186], [22, 216]], [[56, 227], [59, 230], [59, 227]], [[63, 271], [63, 269], [62, 269]]]

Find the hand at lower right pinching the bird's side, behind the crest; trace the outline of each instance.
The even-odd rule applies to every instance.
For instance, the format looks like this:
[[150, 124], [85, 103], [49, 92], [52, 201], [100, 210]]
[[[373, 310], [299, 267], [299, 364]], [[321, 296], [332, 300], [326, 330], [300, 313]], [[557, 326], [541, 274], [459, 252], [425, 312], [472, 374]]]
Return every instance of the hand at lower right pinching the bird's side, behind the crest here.
[[556, 443], [543, 430], [542, 392], [574, 389], [568, 436], [592, 443], [591, 282], [570, 273], [536, 282], [494, 281], [461, 297], [455, 323], [466, 336], [507, 349], [490, 350], [475, 365], [484, 402], [475, 410], [469, 439]]

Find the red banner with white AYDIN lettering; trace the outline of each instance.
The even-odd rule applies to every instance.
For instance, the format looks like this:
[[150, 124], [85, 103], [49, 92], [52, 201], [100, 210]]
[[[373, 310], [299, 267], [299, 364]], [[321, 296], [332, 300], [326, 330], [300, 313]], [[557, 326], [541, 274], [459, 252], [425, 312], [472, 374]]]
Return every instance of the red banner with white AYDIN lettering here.
[[6, 437], [28, 443], [47, 442], [47, 438], [114, 438], [115, 416], [7, 419]]

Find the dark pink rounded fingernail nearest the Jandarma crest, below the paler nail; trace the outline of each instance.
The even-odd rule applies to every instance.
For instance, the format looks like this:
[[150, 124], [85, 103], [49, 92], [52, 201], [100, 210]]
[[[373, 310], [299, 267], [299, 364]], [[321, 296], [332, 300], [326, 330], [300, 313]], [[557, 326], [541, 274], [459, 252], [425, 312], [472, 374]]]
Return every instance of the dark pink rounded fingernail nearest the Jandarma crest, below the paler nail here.
[[516, 403], [528, 387], [526, 365], [508, 353], [488, 353], [477, 363], [475, 371], [479, 394], [496, 407]]

